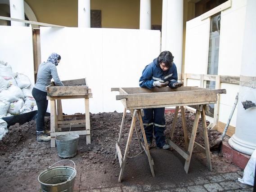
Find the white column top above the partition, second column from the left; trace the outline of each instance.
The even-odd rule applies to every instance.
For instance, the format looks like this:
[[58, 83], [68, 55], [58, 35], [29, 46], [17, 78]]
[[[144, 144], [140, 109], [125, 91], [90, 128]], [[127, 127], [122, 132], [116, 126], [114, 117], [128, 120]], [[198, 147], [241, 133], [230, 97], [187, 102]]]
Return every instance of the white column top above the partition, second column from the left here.
[[90, 0], [78, 0], [78, 27], [91, 27]]

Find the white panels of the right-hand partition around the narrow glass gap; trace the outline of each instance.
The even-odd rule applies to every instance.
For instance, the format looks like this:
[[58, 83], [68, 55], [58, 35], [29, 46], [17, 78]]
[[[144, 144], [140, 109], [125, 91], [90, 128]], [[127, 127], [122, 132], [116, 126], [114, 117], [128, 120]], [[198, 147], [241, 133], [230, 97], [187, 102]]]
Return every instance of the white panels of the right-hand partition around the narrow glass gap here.
[[[218, 74], [240, 76], [243, 49], [246, 0], [232, 0], [232, 6], [221, 12], [220, 49]], [[209, 50], [210, 18], [201, 21], [201, 17], [187, 22], [184, 73], [207, 74]], [[199, 81], [188, 80], [188, 86]], [[226, 123], [234, 104], [239, 85], [221, 83], [220, 89], [227, 94], [220, 94], [219, 121]], [[237, 108], [230, 125], [236, 125]]]

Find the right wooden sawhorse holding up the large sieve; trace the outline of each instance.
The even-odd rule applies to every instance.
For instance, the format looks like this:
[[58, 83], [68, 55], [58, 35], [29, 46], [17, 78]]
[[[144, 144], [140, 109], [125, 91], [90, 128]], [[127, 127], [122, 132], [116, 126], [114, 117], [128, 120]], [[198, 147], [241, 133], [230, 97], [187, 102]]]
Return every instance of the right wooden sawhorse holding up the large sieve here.
[[[209, 147], [207, 125], [206, 125], [206, 119], [205, 119], [205, 107], [206, 107], [205, 105], [196, 106], [196, 115], [195, 115], [195, 120], [194, 120], [194, 123], [193, 123], [193, 128], [192, 128], [190, 139], [189, 139], [188, 134], [187, 134], [184, 107], [183, 106], [180, 106], [180, 107], [177, 106], [175, 108], [175, 114], [174, 114], [174, 119], [173, 119], [173, 122], [172, 122], [172, 129], [171, 129], [171, 138], [167, 138], [167, 142], [169, 143], [169, 145], [171, 145], [171, 147], [173, 147], [175, 149], [176, 152], [178, 152], [186, 160], [185, 165], [184, 165], [184, 170], [186, 171], [186, 173], [189, 172], [189, 164], [190, 164], [190, 160], [191, 160], [194, 145], [196, 145], [196, 147], [198, 147], [198, 149], [200, 151], [206, 153], [208, 169], [212, 170], [212, 168], [211, 168], [211, 152], [210, 152], [210, 147]], [[180, 112], [181, 112], [182, 128], [183, 128], [183, 132], [184, 132], [185, 149], [186, 149], [185, 151], [172, 141], [174, 131], [175, 131], [176, 120], [177, 120], [179, 108], [180, 108]], [[203, 136], [204, 136], [205, 147], [202, 147], [202, 145], [195, 142], [200, 114], [201, 114], [201, 119], [202, 119], [202, 127], [203, 127]]]

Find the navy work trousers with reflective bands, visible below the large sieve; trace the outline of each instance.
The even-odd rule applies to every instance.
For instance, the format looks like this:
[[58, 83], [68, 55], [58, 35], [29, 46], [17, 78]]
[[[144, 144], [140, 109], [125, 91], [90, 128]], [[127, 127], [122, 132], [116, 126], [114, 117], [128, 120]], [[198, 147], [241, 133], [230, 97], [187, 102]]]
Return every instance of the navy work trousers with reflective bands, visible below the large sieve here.
[[165, 108], [143, 109], [143, 125], [148, 143], [152, 143], [153, 130], [156, 137], [157, 147], [162, 148], [165, 142]]

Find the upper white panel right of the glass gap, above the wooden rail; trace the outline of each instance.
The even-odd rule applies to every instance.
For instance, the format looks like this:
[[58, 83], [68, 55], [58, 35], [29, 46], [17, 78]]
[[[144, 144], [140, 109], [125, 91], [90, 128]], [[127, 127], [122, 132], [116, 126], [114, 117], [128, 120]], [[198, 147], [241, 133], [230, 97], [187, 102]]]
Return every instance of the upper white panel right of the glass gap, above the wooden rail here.
[[245, 0], [232, 1], [232, 7], [221, 14], [219, 75], [239, 76], [242, 61]]

